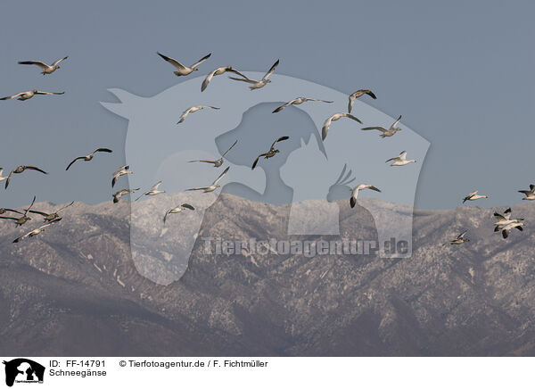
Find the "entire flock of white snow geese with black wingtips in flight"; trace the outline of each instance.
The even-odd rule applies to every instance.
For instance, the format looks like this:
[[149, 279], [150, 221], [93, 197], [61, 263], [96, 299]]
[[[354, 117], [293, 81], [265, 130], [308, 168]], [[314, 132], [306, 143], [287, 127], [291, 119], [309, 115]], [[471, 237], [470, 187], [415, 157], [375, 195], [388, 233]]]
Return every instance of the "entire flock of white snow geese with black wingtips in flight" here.
[[[204, 57], [202, 57], [199, 61], [194, 62], [191, 66], [185, 66], [181, 62], [178, 62], [177, 60], [175, 60], [174, 58], [171, 58], [171, 57], [169, 57], [167, 55], [164, 55], [164, 54], [161, 54], [161, 53], [157, 53], [157, 54], [163, 60], [165, 60], [166, 62], [169, 62], [171, 65], [174, 66], [174, 68], [176, 68], [176, 70], [174, 71], [174, 74], [177, 77], [187, 76], [187, 75], [193, 73], [193, 71], [199, 70], [198, 66], [200, 64], [202, 64], [202, 62], [207, 61], [210, 58], [210, 55], [211, 55], [211, 54], [207, 54]], [[18, 62], [18, 63], [21, 64], [21, 65], [36, 65], [42, 70], [41, 74], [48, 75], [48, 74], [52, 74], [54, 71], [60, 69], [60, 65], [59, 65], [60, 62], [65, 61], [68, 58], [69, 58], [68, 56], [65, 56], [62, 59], [53, 62], [51, 65], [48, 65], [45, 62], [41, 62], [41, 61], [21, 61], [21, 62]], [[229, 79], [233, 79], [235, 81], [241, 81], [241, 82], [247, 83], [247, 84], [250, 85], [249, 88], [251, 90], [255, 90], [255, 89], [259, 89], [261, 87], [265, 87], [266, 85], [268, 85], [271, 82], [269, 77], [275, 72], [276, 67], [278, 66], [278, 64], [279, 64], [279, 60], [277, 60], [269, 68], [268, 72], [264, 75], [264, 77], [262, 77], [262, 79], [258, 79], [258, 80], [257, 79], [249, 79], [241, 71], [236, 70], [232, 66], [219, 67], [219, 68], [217, 68], [215, 70], [210, 71], [210, 73], [206, 76], [206, 78], [203, 79], [202, 85], [201, 85], [201, 91], [203, 92], [204, 90], [206, 90], [206, 88], [210, 84], [210, 81], [214, 77], [220, 76], [220, 75], [222, 75], [222, 74], [224, 74], [226, 72], [233, 73], [236, 76], [238, 76], [238, 77], [229, 76], [228, 77]], [[63, 95], [63, 94], [64, 94], [64, 92], [44, 92], [44, 91], [40, 91], [38, 89], [32, 89], [32, 90], [29, 90], [29, 91], [26, 91], [26, 92], [18, 93], [16, 95], [9, 95], [9, 96], [0, 98], [0, 100], [11, 100], [13, 98], [18, 98], [18, 100], [25, 101], [25, 100], [28, 100], [28, 99], [32, 98], [35, 95]], [[348, 102], [348, 112], [337, 112], [337, 113], [334, 113], [332, 116], [330, 116], [329, 118], [327, 118], [325, 120], [324, 125], [322, 127], [322, 139], [324, 141], [325, 141], [325, 138], [327, 137], [327, 133], [328, 133], [329, 129], [331, 128], [331, 125], [332, 125], [333, 121], [341, 120], [342, 118], [347, 118], [347, 119], [354, 120], [354, 121], [357, 121], [358, 123], [362, 124], [362, 121], [359, 120], [353, 114], [351, 114], [351, 111], [353, 109], [353, 105], [355, 103], [355, 100], [358, 99], [361, 96], [364, 96], [364, 95], [367, 95], [367, 96], [369, 96], [369, 97], [371, 97], [373, 99], [377, 98], [376, 95], [374, 95], [374, 92], [372, 92], [369, 89], [358, 89], [356, 92], [354, 92], [351, 95], [349, 95], [349, 97], [348, 97], [348, 100], [349, 100], [349, 102]], [[299, 105], [301, 103], [307, 103], [307, 102], [333, 103], [332, 101], [321, 100], [321, 99], [312, 98], [312, 97], [302, 97], [302, 96], [300, 96], [300, 97], [296, 97], [293, 100], [291, 100], [291, 101], [289, 101], [287, 103], [284, 103], [283, 105], [277, 107], [272, 113], [281, 112], [286, 107], [288, 107], [290, 105]], [[212, 110], [218, 110], [219, 109], [218, 107], [214, 107], [214, 106], [210, 106], [210, 105], [193, 105], [193, 106], [187, 108], [184, 112], [182, 112], [177, 124], [184, 122], [185, 118], [190, 113], [199, 112], [199, 111], [202, 111], [205, 108], [209, 108], [209, 109], [212, 109]], [[396, 135], [396, 133], [401, 131], [401, 128], [398, 127], [400, 120], [401, 120], [401, 115], [399, 115], [399, 118], [391, 124], [390, 128], [383, 128], [381, 126], [373, 126], [373, 127], [365, 127], [365, 128], [361, 128], [361, 129], [364, 130], [364, 131], [378, 130], [380, 132], [379, 136], [381, 138], [393, 137], [393, 136]], [[267, 160], [269, 158], [275, 157], [277, 153], [280, 153], [280, 151], [278, 149], [276, 149], [276, 145], [279, 142], [283, 142], [284, 140], [287, 140], [289, 138], [290, 137], [287, 137], [287, 136], [277, 138], [273, 142], [273, 144], [269, 147], [268, 152], [260, 153], [259, 156], [252, 162], [251, 170], [254, 170], [256, 168], [257, 164], [259, 163], [260, 158], [263, 157], [264, 159]], [[194, 160], [194, 161], [189, 161], [189, 162], [210, 163], [211, 165], [213, 165], [214, 168], [219, 168], [224, 164], [224, 159], [226, 157], [226, 154], [229, 153], [233, 149], [233, 147], [236, 145], [237, 142], [238, 141], [236, 140], [235, 143], [233, 145], [231, 145], [226, 150], [226, 152], [221, 155], [221, 157], [218, 160], [214, 160], [214, 161], [210, 161], [210, 160]], [[112, 151], [109, 148], [99, 147], [99, 148], [95, 149], [95, 151], [93, 151], [92, 153], [88, 153], [86, 155], [80, 155], [80, 156], [74, 158], [72, 161], [70, 161], [70, 163], [67, 165], [67, 168], [65, 170], [69, 170], [70, 167], [76, 161], [92, 161], [93, 158], [95, 157], [96, 153], [112, 153]], [[388, 162], [391, 162], [390, 166], [397, 167], [397, 166], [406, 166], [409, 163], [416, 163], [416, 160], [407, 160], [407, 151], [403, 151], [403, 152], [399, 153], [399, 156], [392, 157], [391, 159], [385, 161], [385, 163], [388, 163]], [[10, 182], [12, 180], [13, 174], [21, 174], [21, 173], [23, 173], [23, 172], [25, 172], [27, 170], [35, 170], [35, 171], [40, 172], [42, 174], [48, 174], [45, 170], [37, 168], [36, 166], [21, 165], [21, 166], [18, 166], [16, 168], [14, 168], [10, 172], [10, 174], [8, 176], [4, 177], [4, 169], [0, 168], [0, 181], [4, 181], [5, 180], [5, 189], [7, 189], [7, 187], [9, 186], [9, 184], [10, 184]], [[218, 187], [220, 187], [219, 182], [221, 181], [222, 178], [225, 177], [225, 175], [228, 172], [228, 170], [230, 170], [230, 166], [226, 167], [226, 169], [223, 170], [223, 172], [218, 175], [218, 178], [216, 178], [210, 185], [193, 187], [193, 188], [190, 188], [190, 189], [186, 189], [186, 191], [201, 191], [203, 193], [214, 192], [216, 189], [218, 189]], [[117, 183], [117, 181], [119, 180], [120, 177], [126, 176], [128, 174], [132, 174], [132, 173], [133, 173], [133, 171], [129, 170], [129, 166], [128, 165], [119, 167], [119, 169], [116, 170], [112, 174], [111, 187], [114, 187], [116, 185], [116, 183]], [[342, 175], [343, 175], [343, 171], [342, 171]], [[351, 181], [352, 180], [350, 180], [348, 182], [348, 184]], [[154, 196], [154, 195], [161, 195], [161, 194], [165, 193], [165, 190], [161, 190], [160, 186], [161, 186], [161, 181], [159, 181], [156, 184], [154, 184], [148, 191], [144, 192], [143, 195], [138, 196], [135, 201], [140, 200], [144, 196]], [[135, 192], [137, 192], [140, 189], [141, 188], [120, 189], [119, 191], [115, 192], [112, 195], [113, 203], [119, 203], [120, 198], [123, 195], [134, 194]], [[362, 190], [365, 190], [365, 189], [374, 190], [376, 192], [381, 192], [381, 190], [379, 188], [377, 188], [376, 186], [373, 186], [371, 184], [360, 184], [358, 186], [353, 187], [351, 189], [351, 195], [350, 195], [350, 207], [351, 208], [354, 208], [355, 205], [357, 204], [359, 192], [362, 191]], [[523, 200], [535, 200], [535, 186], [534, 185], [530, 186], [530, 190], [520, 190], [518, 192], [520, 192], [523, 195], [525, 195], [525, 197], [523, 197]], [[488, 198], [488, 196], [487, 195], [479, 195], [478, 191], [473, 191], [472, 193], [470, 193], [470, 194], [465, 196], [465, 198], [463, 199], [463, 203], [465, 203], [467, 201], [476, 201], [476, 200], [483, 199], [483, 198]], [[59, 208], [56, 211], [53, 211], [51, 213], [47, 213], [47, 212], [44, 212], [44, 211], [32, 210], [32, 207], [33, 207], [35, 201], [36, 201], [36, 197], [34, 196], [33, 201], [29, 205], [29, 207], [27, 209], [22, 210], [22, 211], [14, 210], [14, 209], [11, 209], [11, 208], [0, 208], [0, 215], [3, 215], [3, 214], [8, 213], [8, 212], [12, 214], [12, 216], [0, 216], [0, 219], [11, 219], [11, 220], [14, 220], [13, 222], [14, 222], [16, 228], [21, 227], [26, 222], [31, 220], [31, 218], [29, 217], [29, 213], [38, 214], [38, 215], [43, 216], [43, 218], [44, 218], [43, 219], [44, 224], [42, 226], [40, 226], [39, 228], [32, 229], [31, 231], [29, 231], [27, 234], [25, 234], [23, 236], [19, 236], [18, 238], [13, 240], [13, 243], [21, 242], [21, 240], [23, 240], [23, 239], [25, 239], [27, 237], [30, 237], [30, 236], [37, 236], [38, 234], [40, 234], [43, 231], [45, 231], [46, 228], [48, 228], [48, 227], [52, 226], [53, 224], [61, 221], [62, 217], [60, 216], [59, 212], [64, 210], [67, 207], [70, 207], [74, 203], [74, 202], [69, 203], [67, 205], [62, 206], [61, 208]], [[165, 224], [165, 222], [167, 221], [167, 219], [168, 219], [170, 214], [179, 213], [179, 212], [182, 212], [182, 211], [185, 211], [185, 210], [194, 211], [195, 208], [193, 207], [193, 205], [188, 204], [188, 203], [183, 203], [183, 204], [177, 205], [176, 207], [171, 208], [168, 211], [165, 211], [164, 216], [163, 216], [163, 223]], [[495, 230], [495, 232], [500, 232], [501, 231], [502, 236], [504, 238], [507, 238], [507, 236], [509, 236], [510, 232], [513, 229], [518, 229], [520, 231], [523, 230], [523, 226], [524, 226], [524, 221], [523, 220], [524, 219], [513, 219], [512, 215], [511, 215], [511, 209], [510, 208], [508, 208], [506, 211], [504, 211], [503, 214], [499, 214], [498, 212], [495, 212], [494, 216], [495, 216], [495, 218], [497, 220], [494, 223], [494, 226], [495, 226], [494, 230]], [[465, 230], [464, 232], [459, 234], [456, 238], [450, 240], [446, 244], [465, 244], [466, 242], [469, 242], [470, 239], [468, 237], [466, 237], [467, 232], [468, 231]]]

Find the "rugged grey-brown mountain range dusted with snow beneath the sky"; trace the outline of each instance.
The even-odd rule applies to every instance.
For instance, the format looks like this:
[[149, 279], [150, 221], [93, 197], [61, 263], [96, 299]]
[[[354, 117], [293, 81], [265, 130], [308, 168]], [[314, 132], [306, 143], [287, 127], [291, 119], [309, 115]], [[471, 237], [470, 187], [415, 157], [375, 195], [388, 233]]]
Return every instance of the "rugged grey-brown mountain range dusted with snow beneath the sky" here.
[[[37, 228], [41, 217], [21, 228], [3, 221], [0, 353], [535, 355], [531, 203], [513, 207], [527, 226], [506, 240], [493, 232], [495, 210], [415, 211], [412, 256], [385, 259], [374, 253], [207, 253], [203, 237], [288, 240], [290, 206], [205, 196], [75, 203], [62, 211], [61, 222], [18, 244], [12, 240]], [[163, 213], [180, 203], [197, 210], [170, 215], [164, 227]], [[338, 205], [340, 237], [377, 238], [365, 208]], [[189, 261], [177, 261], [188, 223], [199, 223], [200, 231]], [[444, 244], [465, 229], [470, 242]]]

